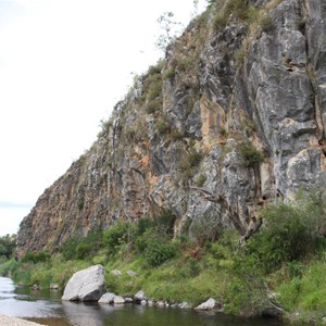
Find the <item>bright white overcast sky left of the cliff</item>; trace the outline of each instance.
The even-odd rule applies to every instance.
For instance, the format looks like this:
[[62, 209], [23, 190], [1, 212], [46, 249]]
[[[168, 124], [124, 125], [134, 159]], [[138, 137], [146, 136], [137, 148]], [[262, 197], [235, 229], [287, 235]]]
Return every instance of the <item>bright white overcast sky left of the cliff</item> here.
[[158, 17], [172, 11], [186, 25], [193, 9], [193, 0], [0, 0], [0, 236], [91, 146], [133, 73], [158, 61]]

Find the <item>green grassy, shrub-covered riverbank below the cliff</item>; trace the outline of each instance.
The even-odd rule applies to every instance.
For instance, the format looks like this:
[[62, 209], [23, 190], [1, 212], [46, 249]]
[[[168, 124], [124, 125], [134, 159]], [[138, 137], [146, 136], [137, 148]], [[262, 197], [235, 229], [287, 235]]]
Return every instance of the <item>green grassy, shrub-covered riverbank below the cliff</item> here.
[[[321, 322], [326, 313], [326, 241], [316, 229], [324, 221], [326, 203], [318, 193], [302, 192], [291, 205], [264, 209], [265, 223], [246, 248], [239, 247], [235, 230], [208, 223], [206, 229], [216, 228], [213, 240], [205, 237], [205, 229], [199, 235], [203, 241], [186, 235], [173, 238], [176, 216], [163, 211], [153, 220], [117, 223], [109, 230], [74, 239], [50, 259], [29, 253], [24, 262], [7, 261], [0, 264], [0, 274], [29, 286], [58, 284], [63, 289], [75, 272], [101, 263], [106, 290], [118, 294], [141, 289], [155, 300], [192, 305], [212, 297], [226, 313], [253, 316], [279, 306], [286, 318]], [[96, 243], [97, 250], [78, 260], [80, 243]], [[121, 275], [113, 275], [113, 269]], [[129, 276], [129, 269], [136, 275]]]

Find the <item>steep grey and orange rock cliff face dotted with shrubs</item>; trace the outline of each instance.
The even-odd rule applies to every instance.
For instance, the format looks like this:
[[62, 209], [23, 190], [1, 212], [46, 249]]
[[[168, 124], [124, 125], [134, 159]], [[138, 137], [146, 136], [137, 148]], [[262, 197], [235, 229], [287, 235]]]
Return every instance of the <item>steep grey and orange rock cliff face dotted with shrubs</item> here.
[[231, 13], [217, 2], [46, 189], [21, 224], [18, 255], [162, 210], [176, 234], [246, 235], [266, 203], [325, 188], [325, 1], [237, 1]]

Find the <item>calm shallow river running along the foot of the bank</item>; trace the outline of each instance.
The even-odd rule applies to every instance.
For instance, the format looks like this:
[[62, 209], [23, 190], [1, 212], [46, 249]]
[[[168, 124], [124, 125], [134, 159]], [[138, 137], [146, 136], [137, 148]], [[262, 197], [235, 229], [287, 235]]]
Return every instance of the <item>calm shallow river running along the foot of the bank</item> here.
[[50, 326], [285, 326], [272, 319], [241, 319], [217, 312], [146, 308], [141, 305], [113, 306], [98, 303], [62, 302], [61, 293], [49, 290], [33, 291], [15, 287], [0, 277], [0, 314], [21, 317]]

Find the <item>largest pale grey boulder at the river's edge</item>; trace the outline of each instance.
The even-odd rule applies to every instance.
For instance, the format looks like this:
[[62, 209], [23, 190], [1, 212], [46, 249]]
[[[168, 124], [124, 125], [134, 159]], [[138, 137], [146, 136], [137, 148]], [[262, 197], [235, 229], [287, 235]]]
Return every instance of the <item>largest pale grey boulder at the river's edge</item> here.
[[104, 267], [95, 265], [79, 271], [71, 277], [62, 300], [98, 301], [104, 292]]

